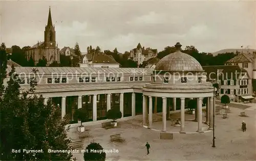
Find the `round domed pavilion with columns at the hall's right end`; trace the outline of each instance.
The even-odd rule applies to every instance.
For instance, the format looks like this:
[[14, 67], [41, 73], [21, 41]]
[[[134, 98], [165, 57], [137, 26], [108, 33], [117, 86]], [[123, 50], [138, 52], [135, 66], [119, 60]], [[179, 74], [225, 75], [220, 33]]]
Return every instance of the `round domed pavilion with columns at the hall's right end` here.
[[[162, 131], [166, 131], [166, 118], [170, 117], [170, 101], [180, 100], [180, 133], [185, 133], [185, 98], [197, 99], [198, 130], [202, 131], [202, 99], [207, 97], [206, 122], [209, 129], [213, 127], [214, 87], [206, 82], [206, 73], [200, 63], [193, 57], [181, 52], [178, 42], [176, 52], [162, 58], [152, 73], [151, 83], [143, 87], [143, 125], [152, 127], [153, 100], [161, 97], [162, 102]], [[148, 107], [147, 107], [148, 102]], [[176, 105], [173, 106], [176, 110]], [[147, 115], [148, 114], [148, 115]]]

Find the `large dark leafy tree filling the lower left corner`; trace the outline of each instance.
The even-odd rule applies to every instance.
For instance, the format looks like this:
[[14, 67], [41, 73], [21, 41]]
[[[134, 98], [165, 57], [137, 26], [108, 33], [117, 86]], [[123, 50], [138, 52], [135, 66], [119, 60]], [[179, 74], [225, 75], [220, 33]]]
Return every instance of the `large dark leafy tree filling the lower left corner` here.
[[[3, 52], [1, 52], [3, 53]], [[6, 61], [6, 60], [5, 60]], [[2, 66], [1, 69], [6, 68]], [[4, 75], [5, 71], [1, 71]], [[36, 74], [37, 70], [33, 69]], [[42, 95], [34, 95], [36, 78], [30, 78], [30, 90], [22, 92], [15, 74], [9, 73], [7, 87], [0, 97], [1, 160], [70, 160], [71, 153], [49, 153], [48, 149], [71, 150], [67, 138], [67, 119], [61, 119], [61, 109], [44, 104]], [[4, 78], [4, 77], [2, 77]], [[3, 83], [1, 84], [3, 86]], [[13, 153], [12, 149], [42, 149], [39, 153]]]

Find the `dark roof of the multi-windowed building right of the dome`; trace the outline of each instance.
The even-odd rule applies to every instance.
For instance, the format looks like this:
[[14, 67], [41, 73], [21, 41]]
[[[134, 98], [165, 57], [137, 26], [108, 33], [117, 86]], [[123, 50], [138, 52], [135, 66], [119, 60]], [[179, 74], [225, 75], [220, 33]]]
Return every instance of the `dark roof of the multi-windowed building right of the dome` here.
[[[218, 65], [218, 66], [203, 66], [204, 71], [207, 73], [207, 78], [217, 79], [217, 71], [224, 74], [224, 79], [236, 78], [236, 73], [247, 73], [244, 68], [238, 65]], [[219, 76], [222, 79], [223, 75]], [[247, 76], [249, 77], [248, 73]]]

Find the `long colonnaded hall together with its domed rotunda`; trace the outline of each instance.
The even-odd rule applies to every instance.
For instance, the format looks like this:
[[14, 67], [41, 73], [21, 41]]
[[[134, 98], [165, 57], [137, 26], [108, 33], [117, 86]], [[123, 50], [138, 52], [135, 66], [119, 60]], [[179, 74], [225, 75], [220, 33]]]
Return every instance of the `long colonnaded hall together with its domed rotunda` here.
[[[37, 86], [35, 94], [42, 94], [45, 102], [59, 107], [61, 117], [70, 119], [71, 127], [78, 126], [76, 109], [86, 108], [89, 120], [83, 124], [107, 121], [106, 112], [120, 109], [122, 118], [143, 116], [144, 125], [152, 126], [153, 114], [162, 114], [163, 131], [170, 112], [181, 113], [181, 132], [184, 131], [185, 109], [191, 98], [198, 99], [198, 131], [202, 123], [202, 99], [207, 101], [207, 122], [212, 123], [214, 88], [206, 82], [200, 63], [180, 51], [170, 53], [151, 68], [81, 68], [81, 67], [16, 67], [22, 90], [30, 88], [30, 78]], [[7, 72], [11, 71], [8, 67]], [[9, 77], [4, 81], [7, 84]]]

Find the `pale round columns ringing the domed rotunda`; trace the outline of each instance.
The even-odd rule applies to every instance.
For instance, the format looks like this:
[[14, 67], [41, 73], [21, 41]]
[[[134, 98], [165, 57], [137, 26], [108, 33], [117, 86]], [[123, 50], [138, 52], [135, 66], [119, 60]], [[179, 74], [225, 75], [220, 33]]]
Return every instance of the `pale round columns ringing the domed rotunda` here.
[[[149, 98], [149, 112], [148, 112], [148, 126], [152, 127], [153, 123], [153, 106], [152, 106], [152, 96]], [[166, 120], [169, 117], [169, 105], [167, 106], [167, 98], [162, 97], [162, 131], [166, 131]], [[185, 133], [185, 98], [181, 99], [181, 110], [180, 110], [180, 133]], [[197, 132], [202, 132], [202, 100], [203, 98], [197, 98], [197, 121], [198, 121], [198, 130]], [[176, 110], [176, 99], [174, 98], [174, 110]], [[209, 129], [213, 128], [213, 114], [214, 114], [214, 97], [208, 97], [206, 103], [206, 122], [209, 124]], [[167, 115], [167, 117], [166, 117]], [[147, 108], [146, 108], [146, 96], [143, 95], [143, 124], [147, 125]]]

